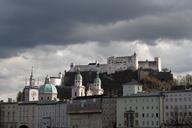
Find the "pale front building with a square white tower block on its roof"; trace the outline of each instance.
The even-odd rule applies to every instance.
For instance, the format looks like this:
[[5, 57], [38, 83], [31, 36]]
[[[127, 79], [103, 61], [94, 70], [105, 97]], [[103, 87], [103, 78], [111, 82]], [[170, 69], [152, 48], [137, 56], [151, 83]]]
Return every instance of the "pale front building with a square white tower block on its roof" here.
[[123, 97], [117, 98], [117, 128], [158, 128], [163, 123], [163, 95], [143, 93], [131, 83], [123, 86]]

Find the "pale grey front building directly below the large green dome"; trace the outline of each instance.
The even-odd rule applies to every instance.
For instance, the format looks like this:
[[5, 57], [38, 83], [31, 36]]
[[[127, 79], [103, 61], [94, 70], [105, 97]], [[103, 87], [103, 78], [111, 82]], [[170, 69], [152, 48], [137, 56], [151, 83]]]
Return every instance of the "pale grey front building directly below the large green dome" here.
[[49, 101], [38, 103], [38, 128], [67, 128], [67, 102]]

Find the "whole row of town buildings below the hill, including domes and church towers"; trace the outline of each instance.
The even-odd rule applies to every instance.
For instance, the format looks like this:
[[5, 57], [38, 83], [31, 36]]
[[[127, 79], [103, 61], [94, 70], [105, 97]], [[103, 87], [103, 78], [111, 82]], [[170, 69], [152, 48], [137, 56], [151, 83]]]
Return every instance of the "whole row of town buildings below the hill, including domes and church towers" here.
[[99, 74], [89, 88], [75, 75], [72, 97], [57, 98], [57, 89], [46, 77], [41, 86], [24, 88], [22, 102], [0, 103], [0, 128], [160, 128], [192, 124], [192, 90], [144, 92], [142, 85], [122, 85], [123, 96], [103, 95]]

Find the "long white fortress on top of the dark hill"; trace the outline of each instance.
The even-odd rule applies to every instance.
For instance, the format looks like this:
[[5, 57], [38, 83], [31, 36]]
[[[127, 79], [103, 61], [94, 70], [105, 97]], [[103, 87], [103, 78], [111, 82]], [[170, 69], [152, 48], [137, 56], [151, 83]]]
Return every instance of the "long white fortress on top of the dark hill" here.
[[151, 69], [155, 71], [161, 71], [161, 59], [155, 57], [153, 61], [138, 61], [137, 54], [134, 53], [131, 56], [121, 57], [108, 57], [107, 64], [100, 64], [97, 61], [95, 63], [89, 63], [88, 65], [75, 65], [71, 63], [70, 72], [75, 72], [76, 68], [80, 68], [80, 71], [98, 71], [100, 73], [107, 72], [108, 74], [115, 73], [116, 71], [124, 71], [128, 69]]

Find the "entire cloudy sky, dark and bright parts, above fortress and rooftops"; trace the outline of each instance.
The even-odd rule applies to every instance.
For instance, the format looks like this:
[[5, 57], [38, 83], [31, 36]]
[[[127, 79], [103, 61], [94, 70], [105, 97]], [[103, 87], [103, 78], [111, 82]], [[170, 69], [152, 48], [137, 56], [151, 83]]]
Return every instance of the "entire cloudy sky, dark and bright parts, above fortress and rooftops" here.
[[1, 0], [0, 100], [16, 97], [32, 66], [41, 83], [71, 62], [134, 52], [191, 74], [191, 21], [191, 0]]

